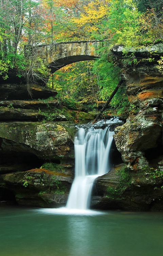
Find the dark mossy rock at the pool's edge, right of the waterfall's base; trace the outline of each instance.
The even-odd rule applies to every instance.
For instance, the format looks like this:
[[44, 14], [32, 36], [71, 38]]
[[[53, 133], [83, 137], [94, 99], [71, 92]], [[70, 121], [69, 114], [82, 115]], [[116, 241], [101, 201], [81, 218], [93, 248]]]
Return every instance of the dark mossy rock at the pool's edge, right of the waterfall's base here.
[[163, 172], [146, 167], [131, 172], [118, 166], [98, 177], [94, 185], [92, 208], [122, 210], [163, 210]]

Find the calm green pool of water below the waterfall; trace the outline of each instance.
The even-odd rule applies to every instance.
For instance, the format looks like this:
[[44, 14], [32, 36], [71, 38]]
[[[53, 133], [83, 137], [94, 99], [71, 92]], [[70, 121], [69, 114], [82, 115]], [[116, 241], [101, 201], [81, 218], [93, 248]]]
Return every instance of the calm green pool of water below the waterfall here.
[[0, 207], [0, 256], [162, 256], [163, 212]]

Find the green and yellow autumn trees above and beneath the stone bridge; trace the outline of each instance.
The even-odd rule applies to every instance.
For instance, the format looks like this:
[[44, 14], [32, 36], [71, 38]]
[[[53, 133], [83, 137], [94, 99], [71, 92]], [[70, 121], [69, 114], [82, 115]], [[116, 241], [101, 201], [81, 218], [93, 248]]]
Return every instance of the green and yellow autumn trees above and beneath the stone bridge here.
[[[107, 40], [110, 46], [141, 47], [163, 39], [163, 0], [0, 0], [0, 75], [50, 76], [47, 67], [24, 54], [41, 44], [73, 40]], [[98, 49], [97, 61], [73, 63], [50, 76], [49, 86], [64, 99], [82, 103], [106, 101], [119, 80], [120, 70], [108, 49]], [[53, 79], [53, 83], [52, 83]], [[122, 103], [124, 89], [111, 104]], [[121, 100], [120, 100], [121, 98]], [[123, 106], [121, 106], [123, 109]]]

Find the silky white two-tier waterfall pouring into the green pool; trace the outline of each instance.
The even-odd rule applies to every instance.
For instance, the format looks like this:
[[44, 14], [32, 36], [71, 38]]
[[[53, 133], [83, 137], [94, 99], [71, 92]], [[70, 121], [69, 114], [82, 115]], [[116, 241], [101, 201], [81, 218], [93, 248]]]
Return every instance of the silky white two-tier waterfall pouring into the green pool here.
[[110, 170], [109, 152], [118, 118], [78, 127], [74, 139], [75, 178], [67, 209], [89, 208], [94, 180]]

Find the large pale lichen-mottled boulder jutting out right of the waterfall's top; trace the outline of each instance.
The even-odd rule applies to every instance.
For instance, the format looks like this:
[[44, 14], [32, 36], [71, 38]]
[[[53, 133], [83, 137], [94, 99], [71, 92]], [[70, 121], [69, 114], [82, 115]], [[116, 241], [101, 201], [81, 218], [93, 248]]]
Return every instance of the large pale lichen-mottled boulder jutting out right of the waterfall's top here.
[[115, 128], [115, 144], [121, 152], [124, 163], [132, 164], [135, 160], [142, 162], [144, 159], [141, 165], [146, 165], [148, 162], [144, 158], [143, 152], [157, 147], [157, 141], [162, 132], [162, 125], [150, 120], [137, 122], [136, 118], [133, 117], [132, 120], [133, 123], [127, 120], [125, 124]]

